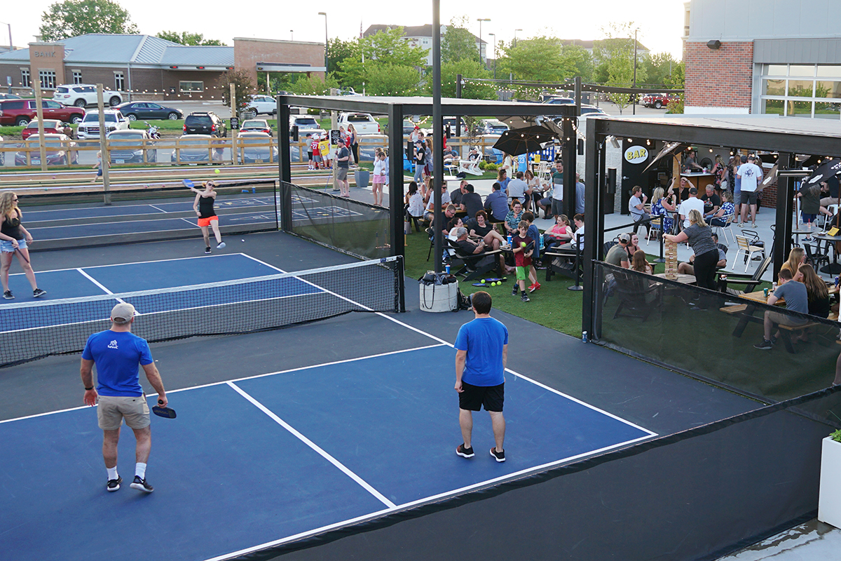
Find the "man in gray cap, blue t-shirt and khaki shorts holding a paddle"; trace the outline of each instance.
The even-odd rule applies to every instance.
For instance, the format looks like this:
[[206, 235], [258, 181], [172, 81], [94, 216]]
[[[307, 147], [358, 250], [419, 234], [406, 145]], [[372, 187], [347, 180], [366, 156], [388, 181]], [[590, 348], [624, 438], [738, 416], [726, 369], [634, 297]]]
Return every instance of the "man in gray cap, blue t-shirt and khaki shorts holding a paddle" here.
[[[108, 470], [108, 491], [119, 490], [123, 478], [117, 474], [117, 444], [119, 428], [123, 424], [135, 431], [135, 479], [132, 489], [151, 493], [146, 482], [146, 461], [149, 459], [152, 437], [149, 405], [146, 405], [140, 373], [143, 367], [146, 379], [158, 394], [158, 404], [167, 405], [161, 374], [152, 359], [149, 343], [131, 333], [135, 320], [135, 307], [121, 302], [111, 310], [111, 329], [94, 333], [87, 338], [82, 352], [82, 384], [85, 386], [85, 405], [97, 405], [99, 428], [103, 430], [103, 458]], [[97, 386], [93, 388], [93, 365], [97, 365]]]

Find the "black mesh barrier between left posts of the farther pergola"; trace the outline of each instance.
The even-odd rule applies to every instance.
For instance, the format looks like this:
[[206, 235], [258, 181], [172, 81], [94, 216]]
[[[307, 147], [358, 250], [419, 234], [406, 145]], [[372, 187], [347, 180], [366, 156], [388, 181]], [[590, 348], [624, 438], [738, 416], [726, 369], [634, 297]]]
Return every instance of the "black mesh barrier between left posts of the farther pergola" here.
[[287, 183], [295, 235], [365, 259], [391, 254], [389, 209]]

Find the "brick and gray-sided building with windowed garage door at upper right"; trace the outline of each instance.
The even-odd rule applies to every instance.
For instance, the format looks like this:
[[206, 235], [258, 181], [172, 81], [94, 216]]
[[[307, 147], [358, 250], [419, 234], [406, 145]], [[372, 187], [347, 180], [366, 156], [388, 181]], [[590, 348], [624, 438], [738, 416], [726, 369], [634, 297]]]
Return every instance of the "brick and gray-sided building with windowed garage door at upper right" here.
[[841, 119], [836, 0], [684, 4], [687, 114]]

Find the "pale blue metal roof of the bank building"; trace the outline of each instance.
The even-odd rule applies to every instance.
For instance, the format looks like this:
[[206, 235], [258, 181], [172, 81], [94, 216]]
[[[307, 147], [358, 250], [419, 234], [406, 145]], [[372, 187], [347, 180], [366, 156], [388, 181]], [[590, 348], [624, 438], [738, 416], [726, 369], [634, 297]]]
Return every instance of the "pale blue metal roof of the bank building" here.
[[[234, 47], [178, 45], [153, 35], [91, 33], [56, 42], [64, 45], [66, 64], [234, 66]], [[0, 53], [2, 61], [29, 62], [29, 49]]]

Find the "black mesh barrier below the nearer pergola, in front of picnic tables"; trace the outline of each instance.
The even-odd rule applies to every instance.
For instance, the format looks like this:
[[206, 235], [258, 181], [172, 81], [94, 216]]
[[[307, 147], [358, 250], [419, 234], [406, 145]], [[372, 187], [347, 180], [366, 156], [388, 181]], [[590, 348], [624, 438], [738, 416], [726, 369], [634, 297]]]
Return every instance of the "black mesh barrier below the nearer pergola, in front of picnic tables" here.
[[[837, 321], [604, 262], [595, 263], [594, 283], [592, 337], [600, 344], [766, 402], [833, 384]], [[772, 349], [759, 350], [765, 312], [806, 327], [782, 328]]]

